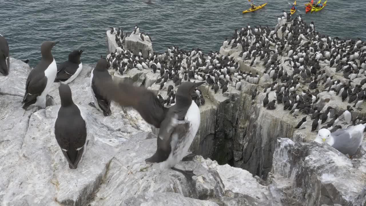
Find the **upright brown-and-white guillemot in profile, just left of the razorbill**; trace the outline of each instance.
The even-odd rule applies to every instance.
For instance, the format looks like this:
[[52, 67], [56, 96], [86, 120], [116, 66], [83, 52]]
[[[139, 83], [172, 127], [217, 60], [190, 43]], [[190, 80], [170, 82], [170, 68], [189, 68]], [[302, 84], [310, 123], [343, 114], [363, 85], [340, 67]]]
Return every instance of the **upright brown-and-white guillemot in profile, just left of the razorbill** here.
[[45, 41], [41, 45], [42, 59], [28, 75], [25, 94], [23, 98], [23, 109], [30, 105], [46, 108], [46, 96], [57, 74], [57, 65], [53, 59], [51, 49], [59, 43], [58, 41]]

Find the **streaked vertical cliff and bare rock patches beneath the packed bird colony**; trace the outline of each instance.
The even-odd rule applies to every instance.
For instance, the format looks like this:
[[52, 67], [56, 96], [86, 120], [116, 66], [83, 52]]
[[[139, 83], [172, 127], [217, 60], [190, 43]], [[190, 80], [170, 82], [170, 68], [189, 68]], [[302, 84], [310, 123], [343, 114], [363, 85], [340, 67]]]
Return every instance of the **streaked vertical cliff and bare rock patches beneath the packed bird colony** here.
[[[108, 47], [114, 51], [117, 44], [114, 36], [109, 33], [107, 31]], [[283, 104], [277, 104], [275, 110], [267, 110], [263, 107], [262, 101], [266, 96], [263, 91], [265, 87], [272, 84], [272, 80], [264, 82], [261, 78], [265, 70], [262, 63], [250, 67], [250, 62], [243, 61], [239, 56], [241, 51], [241, 48], [221, 47], [220, 54], [231, 55], [235, 62], [239, 63], [240, 70], [258, 73], [260, 75], [258, 84], [241, 80], [240, 91], [229, 85], [228, 91], [224, 94], [215, 94], [208, 85], [202, 85], [199, 89], [205, 96], [206, 104], [200, 107], [201, 125], [191, 150], [203, 157], [215, 159], [220, 164], [229, 163], [266, 179], [272, 169], [272, 157], [279, 137], [311, 142], [314, 140], [316, 132], [310, 132], [312, 121], [307, 121], [307, 129], [294, 129], [301, 118], [295, 118], [285, 111]], [[282, 63], [286, 59], [285, 57], [280, 58]], [[283, 66], [291, 75], [291, 67], [286, 64]], [[326, 70], [327, 75], [333, 75], [333, 79], [347, 82], [343, 76], [335, 73], [335, 68], [330, 68], [325, 64], [321, 64], [321, 67]], [[153, 84], [160, 74], [153, 74], [151, 70], [132, 69], [128, 70], [123, 77], [118, 71], [111, 70], [111, 72], [114, 73], [114, 77], [122, 78], [121, 81], [123, 78], [134, 78], [138, 80], [139, 85], [145, 81], [145, 87], [156, 94], [161, 94], [163, 98], [167, 96], [166, 88], [160, 90], [159, 84]], [[361, 79], [361, 77], [355, 78], [351, 84], [359, 84]], [[173, 84], [172, 80], [168, 80], [167, 86], [170, 84]], [[260, 93], [252, 100], [252, 91], [255, 88]], [[302, 84], [300, 89], [307, 89], [307, 86]], [[324, 89], [324, 87], [320, 85], [319, 89]], [[275, 91], [270, 92], [269, 99], [275, 98]], [[328, 106], [332, 106], [335, 109], [331, 110], [331, 115], [344, 111], [348, 105], [347, 102], [342, 102], [339, 96], [331, 96], [327, 92], [321, 92], [319, 98], [320, 100], [315, 105], [322, 111], [325, 111]], [[357, 110], [354, 111], [353, 118], [364, 117], [365, 114], [366, 110]]]

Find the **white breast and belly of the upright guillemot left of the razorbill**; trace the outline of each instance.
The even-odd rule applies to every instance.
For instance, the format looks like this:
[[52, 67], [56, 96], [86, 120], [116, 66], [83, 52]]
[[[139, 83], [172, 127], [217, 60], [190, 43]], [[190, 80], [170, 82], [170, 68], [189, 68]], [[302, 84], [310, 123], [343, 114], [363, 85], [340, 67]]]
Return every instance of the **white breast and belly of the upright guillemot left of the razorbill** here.
[[46, 96], [49, 90], [52, 87], [53, 82], [55, 81], [56, 75], [57, 75], [57, 65], [55, 59], [53, 59], [52, 63], [48, 65], [47, 69], [44, 71], [45, 76], [47, 77], [47, 84], [43, 92], [40, 96], [37, 97], [36, 103], [34, 103], [35, 106], [45, 108], [46, 107]]

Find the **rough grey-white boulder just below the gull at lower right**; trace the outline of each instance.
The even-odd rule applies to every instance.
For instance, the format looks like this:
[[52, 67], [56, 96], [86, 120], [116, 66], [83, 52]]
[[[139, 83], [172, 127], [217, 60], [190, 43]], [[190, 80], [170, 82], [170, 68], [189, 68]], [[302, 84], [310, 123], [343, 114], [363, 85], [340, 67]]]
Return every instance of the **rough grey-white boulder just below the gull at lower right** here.
[[272, 195], [281, 191], [282, 197], [304, 206], [365, 203], [366, 173], [328, 144], [279, 139], [272, 173], [272, 182], [287, 182], [285, 190], [270, 187]]

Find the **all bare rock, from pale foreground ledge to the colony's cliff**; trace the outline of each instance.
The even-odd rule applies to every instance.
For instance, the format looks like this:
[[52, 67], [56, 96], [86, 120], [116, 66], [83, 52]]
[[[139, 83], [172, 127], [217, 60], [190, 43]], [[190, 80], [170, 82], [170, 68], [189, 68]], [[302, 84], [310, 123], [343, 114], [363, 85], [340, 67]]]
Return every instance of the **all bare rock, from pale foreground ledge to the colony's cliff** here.
[[[146, 55], [152, 45], [137, 37], [127, 37], [124, 47], [134, 52], [143, 49]], [[117, 48], [114, 38], [107, 31], [109, 52]], [[264, 67], [250, 67], [250, 62], [239, 56], [240, 51], [221, 48], [220, 54], [232, 56], [240, 70], [262, 76]], [[334, 68], [325, 64], [321, 67], [346, 82]], [[60, 104], [58, 84], [53, 84], [49, 93], [55, 101], [53, 106], [23, 110], [21, 102], [30, 68], [11, 58], [9, 76], [0, 76], [2, 205], [366, 205], [366, 143], [349, 159], [327, 144], [312, 142], [316, 133], [294, 129], [300, 118], [284, 111], [282, 104], [277, 104], [275, 110], [262, 106], [264, 88], [272, 80], [264, 82], [261, 77], [258, 84], [242, 80], [240, 90], [229, 85], [226, 92], [216, 94], [207, 85], [199, 88], [206, 102], [199, 107], [200, 128], [191, 146], [199, 156], [177, 165], [194, 170], [193, 181], [187, 181], [180, 173], [145, 163], [144, 159], [156, 151], [154, 133], [158, 131], [135, 110], [112, 104], [112, 115], [104, 117], [88, 105], [92, 101], [91, 69], [83, 65], [82, 72], [69, 84], [74, 102], [85, 112], [91, 128], [88, 151], [78, 169], [71, 170], [53, 134]], [[123, 75], [113, 69], [109, 72], [115, 81], [132, 80], [163, 97], [172, 84], [169, 80], [160, 89], [154, 83], [160, 74], [150, 69], [134, 68]], [[291, 74], [290, 69], [288, 72]], [[361, 79], [355, 78], [352, 85]], [[259, 93], [252, 100], [255, 88]], [[301, 88], [307, 89], [305, 85]], [[275, 91], [269, 93], [270, 99], [275, 96]], [[339, 96], [327, 92], [319, 96], [316, 106], [322, 111], [332, 106], [332, 115], [347, 106]], [[353, 114], [354, 118], [363, 117], [365, 111]], [[310, 125], [311, 121], [305, 126]]]

